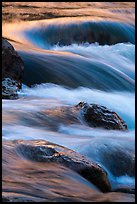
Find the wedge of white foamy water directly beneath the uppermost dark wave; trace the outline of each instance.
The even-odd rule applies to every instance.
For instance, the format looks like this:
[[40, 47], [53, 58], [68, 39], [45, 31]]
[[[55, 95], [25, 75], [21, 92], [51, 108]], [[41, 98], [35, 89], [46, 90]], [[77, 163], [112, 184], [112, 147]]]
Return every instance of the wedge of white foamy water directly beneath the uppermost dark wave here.
[[135, 45], [131, 43], [118, 43], [101, 46], [98, 43], [72, 44], [69, 46], [52, 47], [52, 50], [70, 52], [87, 59], [107, 64], [135, 79]]

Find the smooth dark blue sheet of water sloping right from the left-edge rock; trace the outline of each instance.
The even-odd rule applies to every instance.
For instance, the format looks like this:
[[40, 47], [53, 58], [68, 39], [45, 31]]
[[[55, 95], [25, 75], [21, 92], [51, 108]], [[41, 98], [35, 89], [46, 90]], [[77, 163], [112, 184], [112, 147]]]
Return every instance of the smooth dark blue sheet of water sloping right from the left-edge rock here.
[[54, 83], [72, 88], [84, 86], [105, 91], [134, 92], [133, 65], [130, 71], [130, 65], [124, 69], [69, 53], [20, 51], [19, 54], [25, 64], [23, 83], [28, 86]]

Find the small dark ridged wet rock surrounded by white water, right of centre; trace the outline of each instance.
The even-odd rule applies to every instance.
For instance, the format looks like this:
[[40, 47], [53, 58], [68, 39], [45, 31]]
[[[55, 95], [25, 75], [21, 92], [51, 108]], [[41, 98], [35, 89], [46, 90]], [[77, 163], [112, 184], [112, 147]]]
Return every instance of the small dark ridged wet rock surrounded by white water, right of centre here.
[[110, 130], [127, 130], [126, 123], [114, 111], [105, 106], [80, 102], [76, 105], [78, 117], [91, 127], [100, 127]]

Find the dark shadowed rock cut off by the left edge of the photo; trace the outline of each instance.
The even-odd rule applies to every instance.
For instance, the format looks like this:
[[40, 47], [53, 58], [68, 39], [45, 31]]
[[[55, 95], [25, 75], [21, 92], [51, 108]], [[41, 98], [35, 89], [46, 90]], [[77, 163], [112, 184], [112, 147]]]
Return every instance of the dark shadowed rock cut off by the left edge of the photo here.
[[2, 38], [2, 98], [16, 99], [21, 88], [24, 65], [13, 46]]

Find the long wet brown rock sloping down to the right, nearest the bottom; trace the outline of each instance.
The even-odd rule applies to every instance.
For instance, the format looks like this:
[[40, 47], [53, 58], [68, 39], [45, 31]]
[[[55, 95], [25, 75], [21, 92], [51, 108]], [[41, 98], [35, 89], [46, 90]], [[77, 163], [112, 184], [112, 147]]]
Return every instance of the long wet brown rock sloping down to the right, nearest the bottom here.
[[24, 142], [19, 144], [16, 150], [23, 157], [36, 162], [55, 162], [64, 165], [96, 185], [102, 192], [111, 191], [107, 173], [96, 163], [88, 161], [70, 149], [46, 141], [43, 141], [42, 145], [35, 141], [27, 141], [26, 144]]

